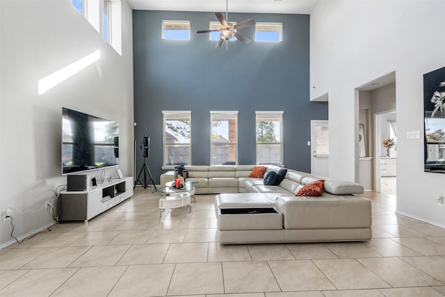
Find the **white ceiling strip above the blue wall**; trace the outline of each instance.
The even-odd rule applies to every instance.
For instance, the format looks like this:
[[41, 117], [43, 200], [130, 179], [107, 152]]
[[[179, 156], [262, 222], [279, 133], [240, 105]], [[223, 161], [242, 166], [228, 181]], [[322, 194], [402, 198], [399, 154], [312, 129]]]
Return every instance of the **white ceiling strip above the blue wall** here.
[[[134, 10], [226, 11], [225, 0], [127, 0]], [[320, 0], [227, 0], [229, 13], [309, 15]]]

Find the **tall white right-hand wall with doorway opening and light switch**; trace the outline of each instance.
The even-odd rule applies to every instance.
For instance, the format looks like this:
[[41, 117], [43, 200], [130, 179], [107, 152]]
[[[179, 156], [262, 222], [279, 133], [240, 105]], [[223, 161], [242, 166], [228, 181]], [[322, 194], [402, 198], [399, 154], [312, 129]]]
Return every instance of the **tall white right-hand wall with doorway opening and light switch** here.
[[[330, 177], [357, 180], [355, 88], [396, 72], [397, 211], [445, 227], [445, 175], [423, 172], [423, 74], [445, 65], [445, 1], [321, 1], [311, 99], [329, 93]], [[356, 109], [357, 108], [357, 109]], [[407, 140], [407, 131], [420, 139]]]

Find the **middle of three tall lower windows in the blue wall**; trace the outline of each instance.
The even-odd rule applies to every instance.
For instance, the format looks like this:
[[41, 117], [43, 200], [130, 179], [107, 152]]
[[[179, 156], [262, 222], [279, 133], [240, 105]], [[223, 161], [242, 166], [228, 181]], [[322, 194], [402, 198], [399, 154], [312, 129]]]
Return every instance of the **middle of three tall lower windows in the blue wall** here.
[[238, 163], [238, 111], [210, 111], [210, 165]]

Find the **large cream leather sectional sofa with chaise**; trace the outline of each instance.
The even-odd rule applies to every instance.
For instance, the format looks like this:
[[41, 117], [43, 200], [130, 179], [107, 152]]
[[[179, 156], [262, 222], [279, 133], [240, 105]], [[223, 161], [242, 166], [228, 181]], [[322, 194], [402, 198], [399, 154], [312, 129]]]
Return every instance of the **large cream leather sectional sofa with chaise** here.
[[[363, 186], [287, 169], [280, 184], [249, 177], [254, 165], [186, 166], [195, 193], [215, 193], [220, 243], [366, 241], [371, 239], [371, 201]], [[268, 172], [280, 170], [267, 166]], [[174, 172], [161, 175], [161, 185]], [[296, 197], [302, 187], [323, 179], [317, 197]]]

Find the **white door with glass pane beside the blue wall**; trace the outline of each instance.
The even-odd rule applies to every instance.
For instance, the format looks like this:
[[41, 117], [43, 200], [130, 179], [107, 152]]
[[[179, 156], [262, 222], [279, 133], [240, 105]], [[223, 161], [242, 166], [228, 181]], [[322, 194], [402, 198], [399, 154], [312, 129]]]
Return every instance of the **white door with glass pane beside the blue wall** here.
[[327, 177], [329, 126], [327, 120], [311, 121], [311, 173]]

